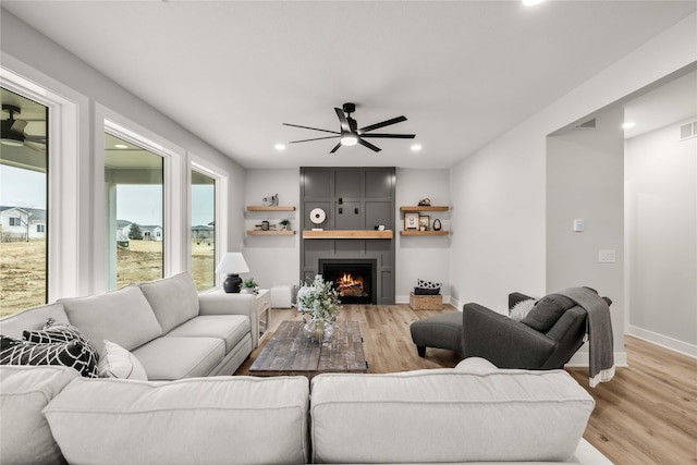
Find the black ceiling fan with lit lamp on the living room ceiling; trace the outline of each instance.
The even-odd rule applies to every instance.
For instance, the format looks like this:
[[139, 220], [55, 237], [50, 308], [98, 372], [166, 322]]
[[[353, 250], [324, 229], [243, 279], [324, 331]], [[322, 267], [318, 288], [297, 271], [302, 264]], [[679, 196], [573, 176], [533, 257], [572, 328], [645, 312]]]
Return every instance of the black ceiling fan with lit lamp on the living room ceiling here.
[[335, 134], [333, 136], [327, 137], [315, 137], [310, 139], [302, 139], [302, 140], [292, 140], [289, 144], [297, 144], [301, 142], [310, 142], [310, 140], [322, 140], [330, 138], [339, 138], [339, 144], [331, 149], [330, 154], [339, 150], [339, 147], [342, 145], [352, 146], [356, 144], [360, 144], [364, 147], [368, 147], [372, 151], [380, 151], [379, 147], [370, 144], [365, 140], [366, 138], [402, 138], [402, 139], [412, 139], [416, 137], [416, 134], [384, 134], [384, 133], [370, 133], [371, 131], [379, 130], [380, 127], [389, 126], [391, 124], [401, 123], [402, 121], [406, 121], [405, 117], [396, 117], [391, 120], [386, 120], [380, 123], [370, 124], [365, 127], [358, 129], [358, 123], [356, 120], [351, 118], [351, 113], [356, 111], [355, 103], [344, 103], [343, 108], [334, 108], [337, 111], [337, 117], [339, 117], [340, 131], [329, 131], [329, 130], [320, 130], [318, 127], [308, 127], [308, 126], [299, 126], [297, 124], [283, 123], [286, 126], [293, 127], [302, 127], [304, 130], [313, 130], [313, 131], [321, 131], [323, 133]]

